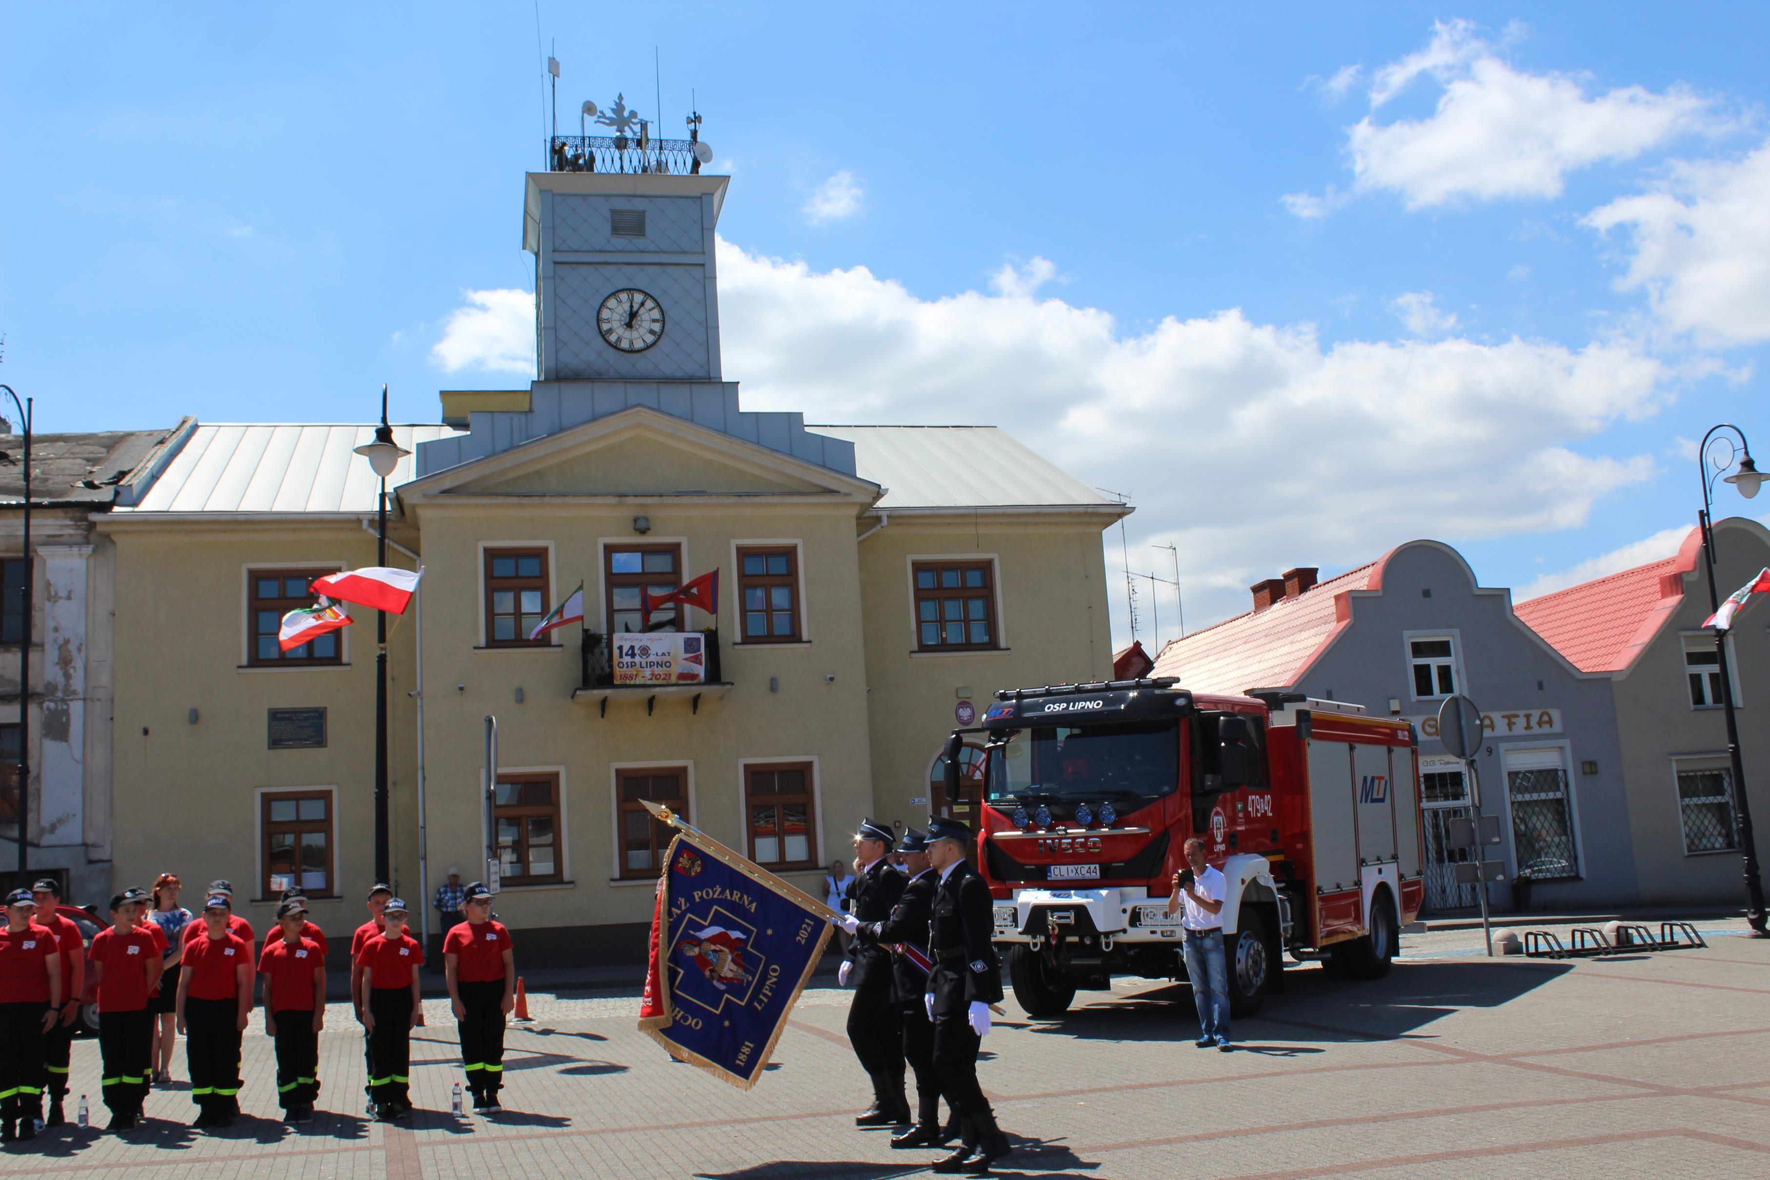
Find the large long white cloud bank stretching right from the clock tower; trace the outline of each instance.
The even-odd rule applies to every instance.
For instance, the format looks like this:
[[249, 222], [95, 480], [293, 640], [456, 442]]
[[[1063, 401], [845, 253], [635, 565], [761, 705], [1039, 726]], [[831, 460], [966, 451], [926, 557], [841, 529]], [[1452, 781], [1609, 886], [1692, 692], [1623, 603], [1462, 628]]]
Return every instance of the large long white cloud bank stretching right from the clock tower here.
[[1310, 324], [1239, 310], [1127, 334], [1014, 283], [920, 299], [866, 267], [719, 249], [724, 370], [749, 409], [998, 423], [1133, 494], [1133, 548], [1181, 548], [1189, 624], [1244, 609], [1248, 582], [1287, 566], [1584, 524], [1653, 460], [1577, 444], [1655, 414], [1673, 380], [1627, 343], [1328, 347]]

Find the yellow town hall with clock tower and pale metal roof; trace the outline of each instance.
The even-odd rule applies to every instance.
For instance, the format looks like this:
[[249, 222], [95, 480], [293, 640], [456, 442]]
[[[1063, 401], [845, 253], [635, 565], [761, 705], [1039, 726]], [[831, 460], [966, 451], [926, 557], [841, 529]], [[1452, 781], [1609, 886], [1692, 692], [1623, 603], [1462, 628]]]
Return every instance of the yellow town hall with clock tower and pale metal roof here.
[[[972, 814], [936, 768], [970, 702], [1112, 672], [1101, 531], [1126, 506], [993, 426], [740, 409], [713, 258], [727, 184], [529, 173], [540, 379], [446, 391], [442, 423], [393, 428], [411, 455], [388, 564], [425, 570], [388, 647], [393, 885], [418, 911], [421, 886], [496, 856], [531, 964], [639, 957], [662, 851], [641, 800], [820, 892], [862, 816]], [[313, 577], [375, 564], [377, 481], [352, 453], [372, 437], [189, 423], [96, 522], [119, 586], [117, 888], [227, 877], [264, 931], [299, 883], [327, 934], [361, 922], [373, 614], [289, 653], [276, 624]], [[641, 596], [713, 570], [717, 616], [653, 617], [704, 633], [704, 683], [614, 683], [609, 637], [641, 630]], [[529, 640], [579, 584], [582, 626]]]

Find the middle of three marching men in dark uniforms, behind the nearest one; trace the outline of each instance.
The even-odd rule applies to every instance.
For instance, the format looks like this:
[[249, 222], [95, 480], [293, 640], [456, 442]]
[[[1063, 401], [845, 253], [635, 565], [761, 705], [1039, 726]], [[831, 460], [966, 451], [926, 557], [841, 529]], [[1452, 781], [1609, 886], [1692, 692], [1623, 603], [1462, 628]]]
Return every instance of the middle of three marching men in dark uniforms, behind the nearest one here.
[[860, 922], [843, 915], [843, 929], [855, 939], [892, 952], [892, 1000], [903, 1026], [903, 1056], [915, 1072], [915, 1127], [892, 1136], [892, 1146], [938, 1146], [950, 1136], [940, 1130], [940, 1083], [935, 1079], [935, 1024], [922, 994], [927, 991], [927, 920], [935, 911], [938, 877], [927, 860], [927, 837], [915, 828], [897, 846], [908, 865], [910, 883], [883, 922]]

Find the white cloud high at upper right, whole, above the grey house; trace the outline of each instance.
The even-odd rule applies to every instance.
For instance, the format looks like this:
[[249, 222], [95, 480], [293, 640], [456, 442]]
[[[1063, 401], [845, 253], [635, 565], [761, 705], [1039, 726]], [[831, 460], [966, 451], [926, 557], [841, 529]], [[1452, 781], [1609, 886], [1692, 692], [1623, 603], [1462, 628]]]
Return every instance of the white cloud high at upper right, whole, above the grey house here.
[[[1377, 111], [1420, 80], [1441, 88], [1432, 115], [1379, 124]], [[1356, 188], [1400, 193], [1407, 209], [1552, 198], [1570, 172], [1731, 126], [1687, 87], [1588, 87], [1579, 74], [1524, 73], [1469, 21], [1441, 21], [1423, 50], [1372, 76], [1370, 113], [1347, 129]]]

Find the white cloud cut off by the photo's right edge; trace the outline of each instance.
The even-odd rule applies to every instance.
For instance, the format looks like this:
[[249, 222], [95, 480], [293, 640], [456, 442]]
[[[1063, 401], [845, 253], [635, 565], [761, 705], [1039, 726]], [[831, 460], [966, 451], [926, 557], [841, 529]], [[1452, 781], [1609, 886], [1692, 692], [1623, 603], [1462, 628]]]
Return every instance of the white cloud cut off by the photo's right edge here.
[[1743, 159], [1674, 166], [1648, 193], [1595, 209], [1627, 228], [1623, 290], [1644, 288], [1660, 324], [1705, 345], [1770, 340], [1770, 142]]

